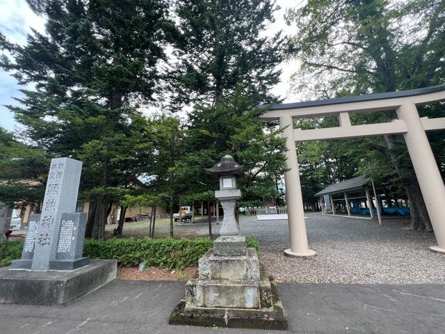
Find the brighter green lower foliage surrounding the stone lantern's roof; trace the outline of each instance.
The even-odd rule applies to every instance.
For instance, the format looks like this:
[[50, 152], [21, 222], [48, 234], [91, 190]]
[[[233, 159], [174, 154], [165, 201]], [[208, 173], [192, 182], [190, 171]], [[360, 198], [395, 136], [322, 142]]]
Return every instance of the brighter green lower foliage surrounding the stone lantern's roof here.
[[184, 138], [187, 154], [177, 163], [177, 177], [188, 186], [184, 204], [186, 200], [213, 199], [219, 181], [209, 177], [204, 168], [213, 166], [226, 154], [245, 166], [245, 175], [237, 181], [243, 194], [241, 201], [277, 196], [277, 180], [286, 170], [282, 154], [286, 145], [275, 125], [259, 120], [262, 111], [251, 108], [255, 101], [255, 97], [245, 97], [238, 89], [221, 104], [197, 106]]

